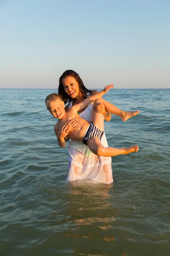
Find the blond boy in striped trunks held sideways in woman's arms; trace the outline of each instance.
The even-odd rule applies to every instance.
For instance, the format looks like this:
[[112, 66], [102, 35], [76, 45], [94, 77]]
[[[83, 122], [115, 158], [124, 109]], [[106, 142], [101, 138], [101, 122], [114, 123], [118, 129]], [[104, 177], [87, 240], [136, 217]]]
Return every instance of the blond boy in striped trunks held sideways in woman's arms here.
[[[101, 97], [113, 88], [113, 84], [110, 84], [105, 87], [99, 93], [96, 93], [93, 96], [88, 97], [84, 101], [72, 106], [65, 112], [65, 104], [57, 93], [52, 93], [48, 95], [45, 99], [45, 104], [47, 106], [48, 111], [58, 119], [57, 124], [54, 126], [55, 134], [57, 135], [58, 145], [61, 148], [65, 148], [66, 141], [69, 139], [75, 140], [85, 145], [88, 145], [88, 148], [98, 156], [104, 157], [112, 157], [119, 154], [128, 154], [131, 152], [137, 152], [139, 150], [138, 145], [132, 145], [129, 148], [105, 148], [100, 140], [104, 133], [104, 115], [101, 113], [96, 113], [94, 108], [99, 105], [99, 103], [103, 103], [105, 105], [105, 109], [114, 114], [114, 105], [110, 102], [105, 101]], [[78, 115], [78, 111], [85, 108], [91, 102], [94, 102], [93, 111], [92, 111], [92, 122], [89, 124], [85, 119], [82, 119]], [[131, 116], [136, 115], [139, 111], [136, 112], [127, 112], [131, 113], [127, 115], [124, 119], [127, 120]], [[68, 128], [65, 125], [66, 122], [70, 121], [71, 125], [75, 127], [75, 129]], [[61, 128], [62, 127], [62, 128]]]

